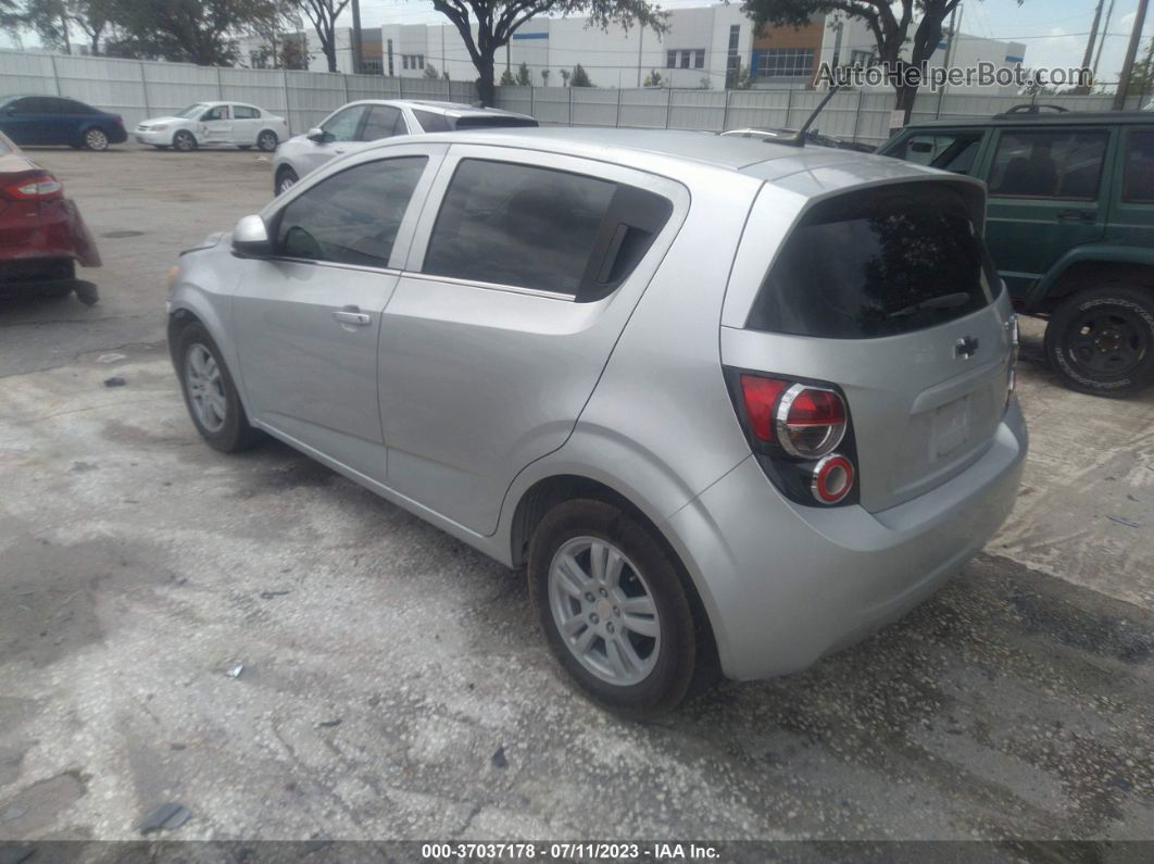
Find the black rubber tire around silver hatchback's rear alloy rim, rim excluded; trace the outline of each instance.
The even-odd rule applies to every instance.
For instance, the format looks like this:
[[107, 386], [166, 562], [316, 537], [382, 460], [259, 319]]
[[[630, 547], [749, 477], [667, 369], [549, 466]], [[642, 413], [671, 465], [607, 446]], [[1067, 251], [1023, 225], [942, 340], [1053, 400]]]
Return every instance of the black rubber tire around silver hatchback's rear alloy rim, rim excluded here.
[[[561, 634], [550, 606], [549, 571], [557, 550], [577, 538], [597, 538], [620, 549], [643, 576], [657, 608], [660, 649], [653, 668], [636, 684], [613, 684], [582, 664]], [[554, 655], [594, 701], [631, 718], [673, 711], [696, 690], [695, 670], [709, 652], [682, 584], [681, 566], [666, 547], [630, 513], [601, 501], [560, 504], [541, 519], [529, 548], [529, 591]], [[616, 613], [616, 609], [614, 610]], [[608, 645], [605, 645], [608, 651]]]

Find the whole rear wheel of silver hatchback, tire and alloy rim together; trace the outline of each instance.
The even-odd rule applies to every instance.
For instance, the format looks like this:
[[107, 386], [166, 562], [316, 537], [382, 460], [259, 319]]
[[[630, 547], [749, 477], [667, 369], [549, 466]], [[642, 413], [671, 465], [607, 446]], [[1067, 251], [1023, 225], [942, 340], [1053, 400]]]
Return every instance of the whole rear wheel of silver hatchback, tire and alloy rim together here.
[[690, 602], [676, 562], [628, 513], [554, 508], [530, 543], [529, 587], [549, 646], [594, 700], [652, 716], [684, 699], [698, 661]]

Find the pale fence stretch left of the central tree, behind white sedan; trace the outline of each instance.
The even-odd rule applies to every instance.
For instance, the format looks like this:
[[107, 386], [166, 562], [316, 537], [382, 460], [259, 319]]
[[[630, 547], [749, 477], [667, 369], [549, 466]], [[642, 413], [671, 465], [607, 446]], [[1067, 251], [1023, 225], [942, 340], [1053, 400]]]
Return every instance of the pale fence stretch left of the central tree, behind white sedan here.
[[15, 95], [69, 96], [122, 115], [128, 128], [194, 102], [247, 102], [284, 117], [288, 128], [300, 133], [353, 99], [467, 103], [477, 98], [477, 90], [472, 82], [0, 51], [0, 97]]

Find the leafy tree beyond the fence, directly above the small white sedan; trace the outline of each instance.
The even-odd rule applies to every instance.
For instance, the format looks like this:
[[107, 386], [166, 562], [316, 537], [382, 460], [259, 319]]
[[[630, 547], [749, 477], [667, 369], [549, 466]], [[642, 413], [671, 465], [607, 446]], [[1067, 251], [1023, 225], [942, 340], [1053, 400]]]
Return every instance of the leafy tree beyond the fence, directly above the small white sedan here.
[[234, 37], [276, 14], [272, 0], [113, 0], [118, 36], [106, 53], [201, 66], [233, 66]]

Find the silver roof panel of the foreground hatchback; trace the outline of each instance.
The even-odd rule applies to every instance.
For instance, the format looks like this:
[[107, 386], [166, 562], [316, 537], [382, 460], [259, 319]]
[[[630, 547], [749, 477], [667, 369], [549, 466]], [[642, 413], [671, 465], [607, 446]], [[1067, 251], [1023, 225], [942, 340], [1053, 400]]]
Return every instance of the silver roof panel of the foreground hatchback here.
[[[900, 179], [923, 176], [928, 173], [956, 178], [941, 171], [926, 168], [899, 159], [890, 159], [848, 150], [820, 146], [789, 146], [758, 138], [736, 135], [702, 135], [691, 130], [621, 129], [613, 127], [537, 127], [485, 128], [454, 133], [432, 133], [420, 136], [421, 142], [445, 144], [492, 144], [523, 146], [600, 161], [616, 163], [642, 171], [661, 173], [654, 166], [655, 157], [692, 165], [742, 172], [762, 180], [777, 180], [789, 174], [812, 171], [831, 165], [844, 166], [846, 182], [859, 179]], [[384, 138], [372, 149], [388, 146]], [[409, 141], [412, 141], [409, 138]], [[361, 151], [364, 152], [364, 151]], [[854, 170], [857, 166], [857, 170]], [[676, 173], [684, 173], [677, 172]]]

